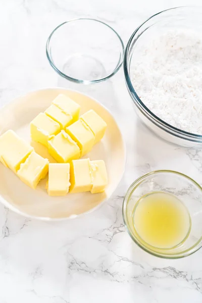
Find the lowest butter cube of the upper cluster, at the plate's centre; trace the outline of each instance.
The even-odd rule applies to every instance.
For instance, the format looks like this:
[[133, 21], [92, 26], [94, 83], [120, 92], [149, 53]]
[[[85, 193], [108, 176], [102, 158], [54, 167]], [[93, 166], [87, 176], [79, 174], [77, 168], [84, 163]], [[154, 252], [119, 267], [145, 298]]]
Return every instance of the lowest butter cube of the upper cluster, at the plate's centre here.
[[48, 153], [59, 163], [80, 158], [80, 149], [75, 141], [62, 130], [48, 141]]

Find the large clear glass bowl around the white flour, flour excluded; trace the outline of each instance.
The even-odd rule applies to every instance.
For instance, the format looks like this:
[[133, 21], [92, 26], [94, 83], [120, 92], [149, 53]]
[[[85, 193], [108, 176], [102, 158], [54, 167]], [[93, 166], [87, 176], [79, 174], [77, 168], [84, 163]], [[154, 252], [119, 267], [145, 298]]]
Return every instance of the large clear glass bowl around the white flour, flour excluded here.
[[155, 36], [172, 29], [191, 29], [201, 34], [201, 15], [202, 8], [200, 7], [180, 7], [166, 10], [150, 17], [130, 37], [126, 46], [123, 64], [126, 86], [139, 118], [148, 128], [163, 139], [188, 147], [202, 147], [202, 135], [180, 130], [157, 117], [141, 101], [132, 85], [131, 79], [133, 66], [141, 53], [142, 46], [154, 39]]

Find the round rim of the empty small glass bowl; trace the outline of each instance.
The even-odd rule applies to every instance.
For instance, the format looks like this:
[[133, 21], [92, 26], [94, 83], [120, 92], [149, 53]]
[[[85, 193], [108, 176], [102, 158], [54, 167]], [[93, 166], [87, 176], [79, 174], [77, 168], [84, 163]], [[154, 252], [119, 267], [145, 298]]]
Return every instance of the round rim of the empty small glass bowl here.
[[[107, 76], [103, 77], [103, 78], [99, 78], [99, 79], [96, 79], [96, 80], [82, 80], [82, 79], [77, 79], [77, 78], [73, 78], [73, 77], [70, 77], [68, 75], [66, 75], [65, 73], [63, 73], [61, 70], [59, 70], [56, 65], [54, 64], [53, 62], [53, 59], [52, 59], [52, 56], [51, 56], [51, 52], [50, 52], [50, 42], [51, 42], [51, 38], [52, 36], [54, 35], [54, 33], [63, 25], [67, 24], [67, 23], [70, 23], [70, 22], [75, 22], [75, 21], [80, 21], [80, 20], [88, 20], [88, 21], [95, 21], [95, 22], [99, 22], [99, 23], [102, 23], [103, 25], [107, 26], [108, 28], [110, 28], [114, 34], [117, 36], [117, 38], [119, 39], [120, 43], [121, 43], [121, 46], [120, 46], [120, 52], [121, 52], [121, 56], [119, 58], [119, 61], [117, 63], [117, 66], [116, 68], [110, 73], [108, 74]], [[48, 62], [49, 64], [51, 64], [51, 66], [53, 67], [53, 69], [62, 77], [66, 78], [67, 80], [70, 80], [72, 82], [76, 82], [76, 83], [83, 83], [83, 84], [92, 84], [92, 83], [98, 83], [98, 82], [102, 82], [104, 80], [107, 80], [109, 79], [110, 77], [112, 77], [113, 75], [115, 75], [118, 70], [120, 69], [122, 63], [123, 63], [123, 57], [124, 57], [124, 43], [120, 37], [120, 35], [117, 33], [116, 30], [114, 30], [110, 25], [108, 25], [107, 23], [103, 22], [103, 21], [100, 21], [100, 20], [97, 20], [97, 19], [93, 19], [93, 18], [75, 18], [75, 19], [71, 19], [71, 20], [68, 20], [68, 21], [65, 21], [61, 24], [59, 24], [52, 32], [51, 34], [49, 35], [49, 37], [47, 38], [47, 41], [46, 41], [46, 57], [48, 59]]]

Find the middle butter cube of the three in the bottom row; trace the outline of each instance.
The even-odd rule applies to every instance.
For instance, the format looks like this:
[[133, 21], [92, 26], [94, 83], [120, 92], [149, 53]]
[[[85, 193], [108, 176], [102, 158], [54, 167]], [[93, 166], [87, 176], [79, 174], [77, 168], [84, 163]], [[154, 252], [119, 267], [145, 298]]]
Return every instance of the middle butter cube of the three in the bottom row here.
[[90, 191], [91, 168], [89, 159], [73, 160], [70, 164], [70, 192]]

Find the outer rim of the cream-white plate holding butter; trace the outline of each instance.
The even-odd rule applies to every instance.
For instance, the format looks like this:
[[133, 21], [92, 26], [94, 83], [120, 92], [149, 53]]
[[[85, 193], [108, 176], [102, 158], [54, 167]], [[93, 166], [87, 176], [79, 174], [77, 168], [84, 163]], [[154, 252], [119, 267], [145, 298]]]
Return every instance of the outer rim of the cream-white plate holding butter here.
[[102, 207], [104, 205], [104, 203], [106, 203], [114, 194], [114, 192], [116, 191], [117, 187], [119, 186], [119, 184], [121, 183], [122, 179], [123, 179], [123, 176], [125, 174], [125, 169], [126, 169], [126, 162], [127, 162], [127, 149], [126, 149], [126, 142], [125, 142], [125, 139], [124, 139], [124, 136], [122, 134], [122, 131], [117, 123], [117, 120], [116, 118], [114, 117], [114, 115], [112, 114], [112, 112], [107, 109], [107, 107], [103, 104], [101, 104], [100, 102], [98, 102], [97, 99], [95, 99], [94, 97], [86, 94], [86, 93], [83, 93], [83, 92], [80, 92], [76, 89], [71, 89], [71, 88], [65, 88], [65, 87], [60, 87], [60, 86], [56, 86], [56, 87], [44, 87], [44, 88], [40, 88], [40, 89], [34, 89], [34, 90], [31, 90], [27, 93], [23, 93], [23, 94], [20, 94], [18, 96], [16, 96], [14, 99], [10, 100], [7, 104], [5, 104], [3, 107], [0, 108], [0, 113], [3, 111], [3, 110], [6, 110], [9, 106], [11, 106], [12, 104], [17, 104], [18, 103], [18, 99], [19, 98], [22, 98], [22, 97], [25, 97], [27, 94], [30, 94], [30, 93], [34, 93], [34, 92], [39, 92], [39, 91], [45, 91], [45, 90], [58, 90], [58, 89], [62, 89], [62, 90], [67, 90], [67, 91], [73, 91], [73, 92], [76, 92], [76, 93], [79, 93], [79, 94], [82, 94], [90, 99], [93, 99], [93, 101], [95, 103], [97, 103], [98, 105], [102, 106], [113, 118], [114, 122], [116, 123], [116, 126], [120, 132], [120, 136], [121, 136], [121, 140], [122, 140], [122, 143], [123, 143], [123, 153], [124, 153], [124, 161], [123, 161], [123, 171], [121, 173], [121, 176], [119, 178], [119, 181], [117, 182], [114, 190], [112, 191], [112, 193], [110, 194], [110, 196], [106, 197], [102, 202], [100, 202], [97, 206], [95, 206], [94, 208], [90, 209], [89, 211], [87, 212], [84, 212], [82, 214], [79, 214], [79, 215], [71, 215], [69, 217], [66, 217], [66, 218], [50, 218], [50, 217], [38, 217], [38, 216], [32, 216], [32, 215], [29, 215], [27, 213], [24, 213], [22, 211], [20, 211], [18, 208], [15, 208], [14, 206], [12, 206], [4, 197], [0, 197], [0, 203], [2, 203], [5, 207], [7, 207], [9, 210], [13, 211], [14, 213], [17, 213], [18, 215], [21, 215], [25, 218], [29, 218], [29, 219], [33, 219], [33, 220], [39, 220], [39, 221], [46, 221], [46, 222], [60, 222], [60, 221], [66, 221], [66, 220], [72, 220], [72, 219], [78, 219], [78, 218], [81, 218], [82, 216], [84, 215], [88, 215], [96, 210], [98, 210], [100, 207]]

